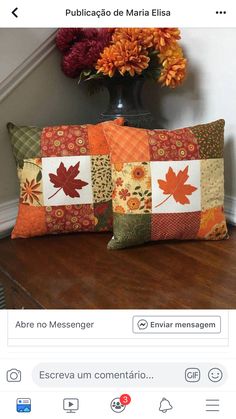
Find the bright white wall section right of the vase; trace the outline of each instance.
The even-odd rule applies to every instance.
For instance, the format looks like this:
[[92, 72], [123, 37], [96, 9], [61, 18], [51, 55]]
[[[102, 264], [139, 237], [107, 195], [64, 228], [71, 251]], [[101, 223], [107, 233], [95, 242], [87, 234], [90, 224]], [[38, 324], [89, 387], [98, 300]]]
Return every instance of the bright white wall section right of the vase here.
[[178, 89], [145, 92], [160, 126], [177, 128], [224, 118], [225, 192], [236, 197], [236, 28], [182, 29], [188, 78]]

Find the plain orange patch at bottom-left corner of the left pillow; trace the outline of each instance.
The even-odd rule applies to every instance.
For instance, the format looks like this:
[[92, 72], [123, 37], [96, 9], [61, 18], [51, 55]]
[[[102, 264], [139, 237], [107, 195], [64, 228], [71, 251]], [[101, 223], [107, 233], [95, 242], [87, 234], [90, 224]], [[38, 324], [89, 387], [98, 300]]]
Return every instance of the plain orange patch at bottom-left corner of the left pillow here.
[[11, 238], [43, 236], [47, 232], [45, 207], [19, 204], [16, 225], [12, 231]]

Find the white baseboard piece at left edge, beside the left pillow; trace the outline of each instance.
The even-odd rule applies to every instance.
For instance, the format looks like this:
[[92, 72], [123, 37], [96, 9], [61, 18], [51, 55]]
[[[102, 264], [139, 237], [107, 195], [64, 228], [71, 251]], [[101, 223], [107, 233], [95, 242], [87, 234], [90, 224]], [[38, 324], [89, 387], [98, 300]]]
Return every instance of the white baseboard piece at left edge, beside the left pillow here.
[[14, 227], [18, 211], [18, 199], [0, 204], [0, 238], [6, 237]]

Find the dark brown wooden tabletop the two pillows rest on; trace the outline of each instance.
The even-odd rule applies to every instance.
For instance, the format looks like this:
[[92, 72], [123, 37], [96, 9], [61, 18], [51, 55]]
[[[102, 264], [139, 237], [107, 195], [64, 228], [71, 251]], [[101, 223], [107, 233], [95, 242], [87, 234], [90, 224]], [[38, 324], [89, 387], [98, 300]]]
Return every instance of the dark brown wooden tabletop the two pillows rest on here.
[[236, 308], [236, 228], [108, 251], [109, 234], [0, 240], [8, 308]]

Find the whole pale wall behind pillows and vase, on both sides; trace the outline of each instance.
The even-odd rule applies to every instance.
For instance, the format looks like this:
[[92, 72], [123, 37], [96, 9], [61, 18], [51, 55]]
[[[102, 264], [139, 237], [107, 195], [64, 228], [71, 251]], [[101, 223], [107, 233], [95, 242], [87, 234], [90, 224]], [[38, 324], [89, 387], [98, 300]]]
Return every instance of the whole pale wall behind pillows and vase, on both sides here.
[[[13, 31], [13, 35], [12, 32]], [[34, 40], [34, 45], [22, 45]], [[21, 49], [0, 62], [0, 80], [6, 80], [26, 55], [51, 33], [45, 29], [2, 29], [0, 56], [6, 56], [3, 40], [17, 35]], [[236, 29], [183, 29], [182, 45], [189, 60], [189, 74], [178, 89], [164, 89], [147, 83], [144, 102], [156, 116], [158, 127], [177, 128], [226, 120], [225, 180], [236, 220]], [[21, 56], [21, 60], [20, 60]], [[4, 60], [3, 60], [4, 61]], [[7, 70], [8, 68], [8, 70]], [[21, 75], [22, 76], [22, 75]], [[17, 83], [16, 83], [17, 84]], [[8, 86], [9, 87], [9, 86]], [[1, 100], [1, 82], [0, 82]], [[107, 94], [89, 96], [84, 86], [65, 77], [60, 70], [60, 54], [53, 50], [0, 103], [0, 206], [17, 197], [15, 163], [6, 131], [8, 121], [16, 124], [47, 125], [96, 121], [106, 107]], [[231, 200], [232, 198], [232, 200]], [[1, 211], [0, 211], [1, 212]]]

